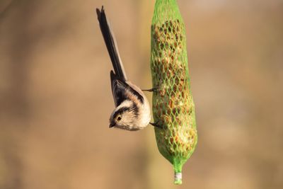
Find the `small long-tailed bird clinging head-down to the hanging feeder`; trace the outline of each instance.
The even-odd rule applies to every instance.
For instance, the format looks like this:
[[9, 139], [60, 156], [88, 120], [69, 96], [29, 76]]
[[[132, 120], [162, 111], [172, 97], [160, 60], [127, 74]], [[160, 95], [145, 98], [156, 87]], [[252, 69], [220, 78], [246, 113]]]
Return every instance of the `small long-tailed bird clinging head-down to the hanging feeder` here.
[[97, 8], [96, 12], [100, 30], [114, 69], [114, 71], [110, 71], [110, 79], [115, 110], [110, 115], [109, 127], [130, 131], [142, 130], [149, 125], [151, 120], [149, 101], [147, 101], [146, 96], [139, 87], [127, 80], [115, 36], [110, 30], [103, 7], [101, 11]]

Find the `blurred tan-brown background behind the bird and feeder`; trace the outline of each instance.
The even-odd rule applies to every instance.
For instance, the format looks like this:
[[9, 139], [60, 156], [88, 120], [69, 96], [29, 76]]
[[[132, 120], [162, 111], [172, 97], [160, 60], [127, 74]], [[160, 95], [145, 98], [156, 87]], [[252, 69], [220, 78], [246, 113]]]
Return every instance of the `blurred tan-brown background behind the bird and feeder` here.
[[[108, 128], [101, 5], [151, 88], [152, 0], [0, 0], [0, 188], [283, 188], [283, 1], [179, 0], [199, 142], [173, 185], [154, 129]], [[151, 98], [151, 94], [148, 94]]]

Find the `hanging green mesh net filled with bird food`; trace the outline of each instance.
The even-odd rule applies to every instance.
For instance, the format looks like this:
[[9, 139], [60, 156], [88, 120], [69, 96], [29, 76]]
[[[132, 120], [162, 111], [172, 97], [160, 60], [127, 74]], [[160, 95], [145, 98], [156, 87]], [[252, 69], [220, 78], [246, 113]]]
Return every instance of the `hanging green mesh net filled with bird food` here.
[[195, 105], [190, 91], [185, 25], [175, 0], [156, 0], [151, 25], [154, 122], [160, 153], [174, 166], [175, 184], [197, 144]]

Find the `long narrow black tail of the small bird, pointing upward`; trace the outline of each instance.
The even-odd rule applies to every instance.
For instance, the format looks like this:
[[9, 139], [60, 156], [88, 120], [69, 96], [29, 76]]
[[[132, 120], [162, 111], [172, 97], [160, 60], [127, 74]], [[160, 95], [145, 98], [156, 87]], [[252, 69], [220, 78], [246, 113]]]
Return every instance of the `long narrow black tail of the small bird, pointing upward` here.
[[110, 59], [111, 59], [115, 74], [119, 77], [119, 79], [127, 81], [127, 76], [125, 74], [125, 70], [124, 70], [122, 61], [120, 59], [119, 51], [117, 49], [115, 36], [110, 30], [110, 26], [108, 24], [103, 6], [101, 8], [101, 11], [98, 8], [96, 8], [96, 13], [98, 15], [100, 30], [103, 35], [108, 53], [110, 55]]

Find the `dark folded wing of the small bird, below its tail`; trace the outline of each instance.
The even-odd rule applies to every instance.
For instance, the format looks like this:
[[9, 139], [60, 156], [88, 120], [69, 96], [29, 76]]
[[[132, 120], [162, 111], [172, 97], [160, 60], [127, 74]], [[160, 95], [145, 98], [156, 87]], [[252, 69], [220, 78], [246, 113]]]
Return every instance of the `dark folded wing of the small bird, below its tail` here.
[[116, 107], [125, 100], [131, 100], [129, 94], [134, 94], [134, 96], [137, 96], [137, 99], [141, 103], [144, 103], [144, 97], [139, 92], [134, 90], [132, 86], [129, 86], [129, 84], [127, 84], [125, 81], [120, 80], [119, 77], [115, 75], [112, 70], [110, 71], [110, 79], [112, 95]]

